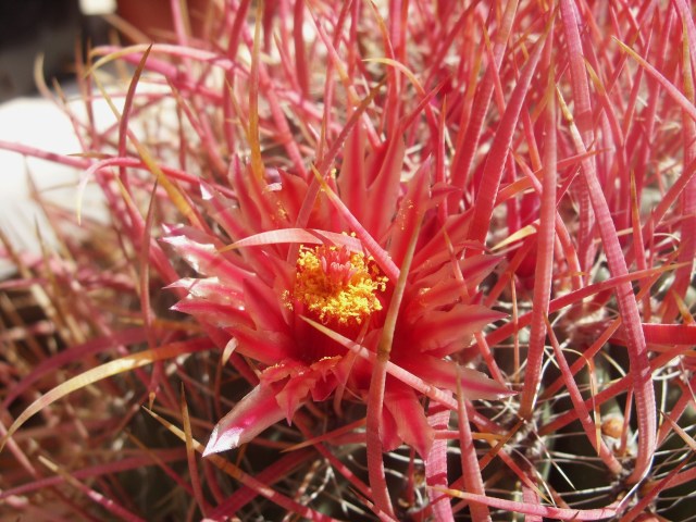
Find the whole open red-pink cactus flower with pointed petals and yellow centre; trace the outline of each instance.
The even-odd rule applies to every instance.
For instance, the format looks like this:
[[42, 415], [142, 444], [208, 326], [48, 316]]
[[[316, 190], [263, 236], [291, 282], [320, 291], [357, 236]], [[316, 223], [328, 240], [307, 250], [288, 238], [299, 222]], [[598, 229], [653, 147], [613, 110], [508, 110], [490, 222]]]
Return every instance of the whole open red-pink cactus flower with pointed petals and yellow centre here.
[[[203, 276], [176, 284], [188, 296], [175, 309], [222, 328], [259, 375], [253, 389], [217, 423], [206, 453], [248, 443], [283, 419], [290, 422], [310, 400], [334, 394], [366, 400], [370, 355], [382, 337], [413, 234], [417, 249], [390, 362], [451, 394], [461, 389], [469, 399], [510, 395], [498, 382], [461, 366], [470, 358], [472, 350], [464, 349], [472, 335], [505, 316], [480, 304], [476, 294], [497, 258], [462, 259], [468, 215], [440, 222], [436, 211], [447, 187], [432, 187], [425, 169], [402, 183], [387, 161], [388, 154], [362, 165], [365, 183], [341, 174], [323, 191], [283, 172], [275, 183], [259, 181], [236, 164], [231, 175], [236, 201], [202, 187], [220, 237], [170, 231], [166, 241]], [[296, 227], [313, 194], [306, 226]], [[337, 204], [336, 196], [349, 207]], [[229, 243], [223, 232], [236, 243], [221, 252]], [[427, 455], [434, 434], [421, 396], [393, 375], [386, 378], [382, 415], [386, 450], [406, 443]]]

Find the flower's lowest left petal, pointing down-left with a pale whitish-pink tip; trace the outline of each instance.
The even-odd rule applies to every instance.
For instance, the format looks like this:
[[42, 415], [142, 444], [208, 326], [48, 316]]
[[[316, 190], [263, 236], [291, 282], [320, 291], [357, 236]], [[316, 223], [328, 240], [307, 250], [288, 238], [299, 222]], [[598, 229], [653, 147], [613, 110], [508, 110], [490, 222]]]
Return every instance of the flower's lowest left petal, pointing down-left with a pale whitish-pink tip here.
[[203, 457], [234, 449], [285, 417], [270, 386], [257, 386], [221, 419], [210, 435]]

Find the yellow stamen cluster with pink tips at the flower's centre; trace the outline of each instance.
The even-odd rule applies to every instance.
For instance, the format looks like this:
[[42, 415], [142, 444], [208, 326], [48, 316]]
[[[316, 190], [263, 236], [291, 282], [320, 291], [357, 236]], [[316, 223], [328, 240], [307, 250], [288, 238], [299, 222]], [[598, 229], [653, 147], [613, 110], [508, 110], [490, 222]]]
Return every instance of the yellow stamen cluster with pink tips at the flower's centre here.
[[346, 247], [300, 248], [293, 295], [324, 324], [359, 325], [382, 310], [387, 278], [372, 258]]

